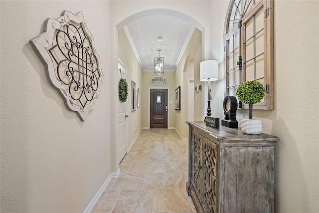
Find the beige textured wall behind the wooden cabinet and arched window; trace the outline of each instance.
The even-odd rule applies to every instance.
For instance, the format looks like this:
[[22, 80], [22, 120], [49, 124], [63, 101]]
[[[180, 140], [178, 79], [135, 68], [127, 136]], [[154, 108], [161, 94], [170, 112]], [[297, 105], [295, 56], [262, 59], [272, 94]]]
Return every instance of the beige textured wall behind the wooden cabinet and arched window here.
[[[228, 3], [227, 3], [228, 5]], [[227, 5], [211, 4], [211, 59], [221, 58]], [[319, 1], [276, 0], [275, 109], [254, 110], [263, 132], [279, 137], [275, 156], [275, 212], [319, 211]], [[218, 19], [218, 16], [220, 17]], [[221, 21], [218, 21], [221, 20]], [[223, 117], [224, 64], [213, 89], [214, 114]], [[237, 111], [237, 120], [248, 116]]]

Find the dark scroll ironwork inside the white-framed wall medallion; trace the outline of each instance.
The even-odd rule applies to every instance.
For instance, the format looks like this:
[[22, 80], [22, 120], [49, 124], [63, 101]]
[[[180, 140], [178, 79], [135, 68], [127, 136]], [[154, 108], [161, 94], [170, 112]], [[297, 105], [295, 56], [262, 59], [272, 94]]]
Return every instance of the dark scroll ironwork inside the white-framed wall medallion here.
[[57, 63], [58, 79], [68, 85], [72, 100], [78, 101], [83, 108], [92, 101], [101, 77], [92, 50], [92, 44], [82, 26], [76, 27], [73, 24], [66, 26], [65, 31], [58, 30], [56, 44], [49, 49]]

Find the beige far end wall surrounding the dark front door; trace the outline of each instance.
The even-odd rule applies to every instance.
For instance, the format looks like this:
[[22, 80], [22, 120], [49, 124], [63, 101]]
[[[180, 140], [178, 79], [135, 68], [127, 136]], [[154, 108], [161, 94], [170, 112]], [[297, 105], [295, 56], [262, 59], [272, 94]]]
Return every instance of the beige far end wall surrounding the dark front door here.
[[[143, 108], [143, 128], [150, 128], [150, 88], [168, 88], [168, 128], [175, 128], [175, 74], [174, 72], [165, 72], [163, 77], [168, 78], [167, 85], [151, 85], [151, 78], [154, 77], [154, 72], [143, 72], [143, 95], [142, 108]], [[171, 103], [170, 103], [171, 102]]]

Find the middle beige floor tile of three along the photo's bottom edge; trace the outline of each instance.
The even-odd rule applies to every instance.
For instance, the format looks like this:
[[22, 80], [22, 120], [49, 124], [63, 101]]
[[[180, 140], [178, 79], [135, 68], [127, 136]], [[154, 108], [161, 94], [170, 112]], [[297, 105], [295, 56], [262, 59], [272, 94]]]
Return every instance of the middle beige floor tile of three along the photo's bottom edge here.
[[152, 213], [153, 190], [122, 190], [112, 213]]

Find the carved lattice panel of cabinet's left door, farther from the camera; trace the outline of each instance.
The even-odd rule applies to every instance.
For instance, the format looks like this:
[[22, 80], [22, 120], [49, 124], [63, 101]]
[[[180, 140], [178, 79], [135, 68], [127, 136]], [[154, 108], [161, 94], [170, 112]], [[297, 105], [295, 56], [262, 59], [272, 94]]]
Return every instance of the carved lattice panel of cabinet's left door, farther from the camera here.
[[197, 135], [195, 132], [193, 134], [193, 186], [197, 190], [198, 195], [201, 193], [201, 143], [200, 143], [200, 136]]

